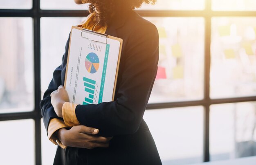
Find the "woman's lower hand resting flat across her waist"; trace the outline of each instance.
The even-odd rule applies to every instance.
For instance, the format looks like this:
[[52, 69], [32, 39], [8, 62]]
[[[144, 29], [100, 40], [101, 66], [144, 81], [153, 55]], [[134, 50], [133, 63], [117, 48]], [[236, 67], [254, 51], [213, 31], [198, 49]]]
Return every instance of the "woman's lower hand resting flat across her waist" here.
[[112, 137], [103, 137], [96, 134], [98, 129], [84, 125], [76, 125], [70, 130], [61, 128], [56, 132], [58, 139], [65, 146], [93, 149], [95, 147], [108, 147]]

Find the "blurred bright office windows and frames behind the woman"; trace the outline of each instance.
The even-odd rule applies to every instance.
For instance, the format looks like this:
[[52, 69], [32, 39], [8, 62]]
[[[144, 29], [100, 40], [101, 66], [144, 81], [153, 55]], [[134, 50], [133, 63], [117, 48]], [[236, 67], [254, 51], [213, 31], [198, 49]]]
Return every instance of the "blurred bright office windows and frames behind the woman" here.
[[[50, 165], [39, 101], [88, 4], [0, 0], [0, 164]], [[157, 0], [137, 12], [159, 31], [144, 119], [164, 165], [256, 155], [256, 0]]]

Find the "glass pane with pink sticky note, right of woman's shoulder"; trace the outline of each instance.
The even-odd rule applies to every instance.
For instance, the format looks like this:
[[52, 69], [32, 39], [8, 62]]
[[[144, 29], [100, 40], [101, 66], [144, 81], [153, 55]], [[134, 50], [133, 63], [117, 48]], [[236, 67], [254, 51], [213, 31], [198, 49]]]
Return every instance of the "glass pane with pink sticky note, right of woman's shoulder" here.
[[146, 18], [159, 31], [159, 63], [149, 103], [203, 98], [204, 19]]

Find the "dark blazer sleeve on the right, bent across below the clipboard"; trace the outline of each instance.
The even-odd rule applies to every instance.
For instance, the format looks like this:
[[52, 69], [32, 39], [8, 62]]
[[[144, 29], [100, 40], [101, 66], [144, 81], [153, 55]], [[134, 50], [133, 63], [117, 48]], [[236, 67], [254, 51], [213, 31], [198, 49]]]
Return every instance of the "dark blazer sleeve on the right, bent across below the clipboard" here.
[[159, 59], [159, 36], [153, 24], [139, 27], [127, 42], [115, 101], [77, 105], [82, 125], [98, 128], [102, 136], [137, 132], [155, 81]]

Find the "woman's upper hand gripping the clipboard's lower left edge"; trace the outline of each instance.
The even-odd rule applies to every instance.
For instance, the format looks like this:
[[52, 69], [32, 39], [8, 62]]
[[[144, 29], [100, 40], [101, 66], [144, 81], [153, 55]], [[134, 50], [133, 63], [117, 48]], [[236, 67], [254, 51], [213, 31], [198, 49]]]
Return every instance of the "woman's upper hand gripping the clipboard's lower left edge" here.
[[51, 103], [58, 117], [63, 118], [62, 106], [65, 102], [69, 102], [67, 90], [63, 86], [59, 86], [57, 90], [51, 93]]

